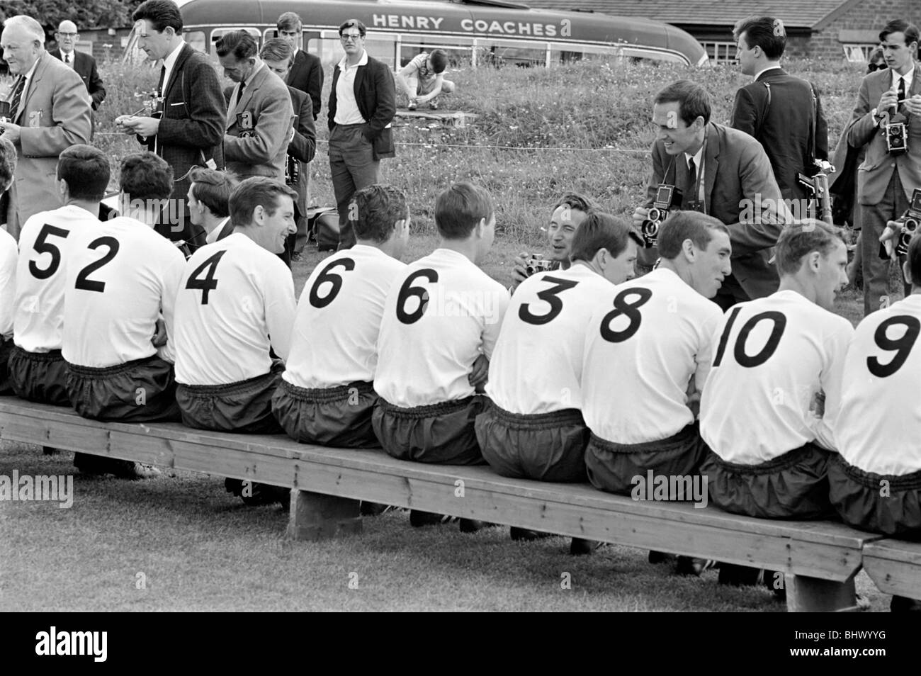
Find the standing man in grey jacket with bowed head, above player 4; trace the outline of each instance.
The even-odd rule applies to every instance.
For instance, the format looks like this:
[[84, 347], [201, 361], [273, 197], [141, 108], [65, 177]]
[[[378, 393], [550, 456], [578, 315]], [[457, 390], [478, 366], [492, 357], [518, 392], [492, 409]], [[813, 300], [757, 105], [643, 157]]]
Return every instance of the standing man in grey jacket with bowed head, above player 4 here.
[[262, 63], [258, 44], [245, 30], [225, 33], [215, 47], [224, 75], [239, 83], [227, 105], [227, 170], [240, 180], [266, 176], [285, 181], [287, 146], [294, 134], [285, 83]]

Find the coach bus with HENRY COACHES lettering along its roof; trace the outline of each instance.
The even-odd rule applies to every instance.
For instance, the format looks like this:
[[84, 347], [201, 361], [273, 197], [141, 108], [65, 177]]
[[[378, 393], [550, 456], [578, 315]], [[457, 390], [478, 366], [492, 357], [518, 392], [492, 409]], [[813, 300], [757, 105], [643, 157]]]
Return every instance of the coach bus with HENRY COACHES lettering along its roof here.
[[[343, 55], [338, 27], [357, 18], [367, 26], [365, 48], [397, 69], [417, 53], [441, 48], [455, 61], [546, 65], [590, 56], [705, 65], [691, 35], [659, 21], [586, 12], [531, 9], [503, 0], [178, 0], [185, 39], [213, 53], [229, 30], [275, 37], [287, 11], [304, 21], [304, 49], [324, 65]], [[134, 41], [129, 41], [129, 49]]]

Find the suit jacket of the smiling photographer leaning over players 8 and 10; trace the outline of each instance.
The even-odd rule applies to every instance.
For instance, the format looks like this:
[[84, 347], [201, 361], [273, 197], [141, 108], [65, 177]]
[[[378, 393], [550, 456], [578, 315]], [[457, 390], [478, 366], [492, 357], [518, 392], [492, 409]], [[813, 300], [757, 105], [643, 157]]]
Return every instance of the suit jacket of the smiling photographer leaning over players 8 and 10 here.
[[[688, 168], [683, 154], [667, 155], [662, 141], [652, 145], [652, 178], [647, 188], [647, 208], [652, 206], [659, 183], [688, 189]], [[768, 251], [776, 243], [787, 216], [780, 188], [764, 148], [749, 134], [709, 122], [704, 153], [705, 211], [729, 226], [732, 242], [732, 276], [751, 298], [769, 296], [780, 280]], [[764, 200], [761, 210], [756, 199]], [[778, 213], [778, 205], [780, 212]], [[729, 280], [727, 280], [729, 282]], [[729, 286], [724, 283], [724, 286]]]

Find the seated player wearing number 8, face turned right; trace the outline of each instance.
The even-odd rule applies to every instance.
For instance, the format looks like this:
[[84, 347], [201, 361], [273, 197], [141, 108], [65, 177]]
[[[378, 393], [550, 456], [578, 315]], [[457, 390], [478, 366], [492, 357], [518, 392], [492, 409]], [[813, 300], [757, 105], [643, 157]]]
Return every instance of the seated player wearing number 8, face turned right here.
[[[659, 232], [659, 267], [593, 305], [582, 397], [591, 430], [585, 461], [596, 488], [632, 495], [635, 478], [645, 482], [648, 472], [700, 480], [706, 445], [695, 417], [723, 317], [708, 298], [731, 272], [731, 253], [729, 228], [717, 218], [679, 212]], [[663, 557], [653, 552], [649, 559]], [[698, 559], [678, 560], [679, 573], [704, 567]]]

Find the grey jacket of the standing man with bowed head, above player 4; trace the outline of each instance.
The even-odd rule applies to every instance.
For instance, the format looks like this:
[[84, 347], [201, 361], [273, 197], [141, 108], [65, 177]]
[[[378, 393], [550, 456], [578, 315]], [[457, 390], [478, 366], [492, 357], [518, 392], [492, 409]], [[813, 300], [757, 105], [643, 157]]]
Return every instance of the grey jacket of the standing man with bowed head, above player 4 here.
[[[235, 89], [232, 87], [227, 92], [232, 96]], [[239, 127], [240, 114], [250, 116], [250, 135], [243, 134], [246, 130]], [[234, 110], [227, 111], [227, 132], [224, 134], [227, 171], [241, 180], [267, 176], [285, 181], [287, 135], [292, 117], [291, 96], [282, 78], [267, 65], [260, 64], [250, 84], [243, 89], [242, 99], [237, 101]]]

